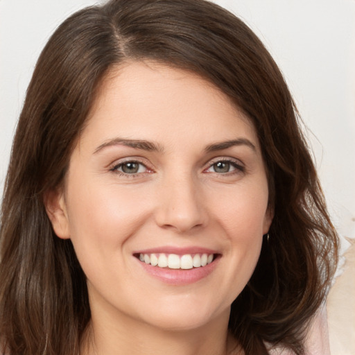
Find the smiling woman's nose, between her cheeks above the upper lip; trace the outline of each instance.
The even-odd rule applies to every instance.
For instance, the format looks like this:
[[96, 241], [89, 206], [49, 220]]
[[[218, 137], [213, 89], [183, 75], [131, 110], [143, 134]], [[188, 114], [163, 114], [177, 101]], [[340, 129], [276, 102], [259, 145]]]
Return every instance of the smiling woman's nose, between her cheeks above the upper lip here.
[[189, 174], [166, 178], [158, 193], [155, 220], [159, 227], [191, 232], [207, 223], [201, 189]]

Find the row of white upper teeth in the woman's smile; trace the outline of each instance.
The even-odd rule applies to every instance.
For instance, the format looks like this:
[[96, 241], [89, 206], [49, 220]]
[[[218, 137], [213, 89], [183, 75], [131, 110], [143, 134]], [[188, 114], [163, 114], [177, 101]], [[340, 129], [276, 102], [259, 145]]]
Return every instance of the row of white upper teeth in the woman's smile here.
[[139, 260], [159, 268], [183, 269], [200, 268], [211, 263], [214, 254], [139, 254]]

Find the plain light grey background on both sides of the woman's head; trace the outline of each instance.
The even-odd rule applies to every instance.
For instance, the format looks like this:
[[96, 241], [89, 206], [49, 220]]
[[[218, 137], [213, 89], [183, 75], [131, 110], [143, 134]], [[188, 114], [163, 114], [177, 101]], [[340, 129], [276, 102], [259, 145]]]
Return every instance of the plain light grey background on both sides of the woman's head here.
[[[0, 0], [1, 191], [40, 51], [66, 17], [98, 2]], [[306, 123], [334, 223], [342, 236], [355, 238], [355, 0], [216, 2], [244, 19], [281, 67]]]

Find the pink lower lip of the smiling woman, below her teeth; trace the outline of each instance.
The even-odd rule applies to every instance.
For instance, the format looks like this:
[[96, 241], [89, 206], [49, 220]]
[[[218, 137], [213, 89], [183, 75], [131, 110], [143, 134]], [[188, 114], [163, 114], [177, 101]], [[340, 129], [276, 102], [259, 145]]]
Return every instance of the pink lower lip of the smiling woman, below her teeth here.
[[175, 286], [189, 285], [204, 279], [216, 268], [219, 257], [214, 259], [211, 263], [206, 266], [201, 266], [200, 268], [192, 268], [187, 270], [182, 269], [169, 269], [169, 268], [159, 268], [159, 266], [152, 266], [148, 263], [144, 263], [137, 259], [141, 264], [142, 268], [149, 275], [159, 279], [160, 281], [171, 284]]

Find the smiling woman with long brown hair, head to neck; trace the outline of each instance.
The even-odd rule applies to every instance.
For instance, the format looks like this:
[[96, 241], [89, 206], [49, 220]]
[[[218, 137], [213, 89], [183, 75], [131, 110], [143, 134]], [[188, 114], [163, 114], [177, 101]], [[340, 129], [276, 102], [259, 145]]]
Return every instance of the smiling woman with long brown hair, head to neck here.
[[64, 21], [28, 87], [1, 218], [11, 355], [304, 354], [337, 259], [282, 74], [202, 0]]

